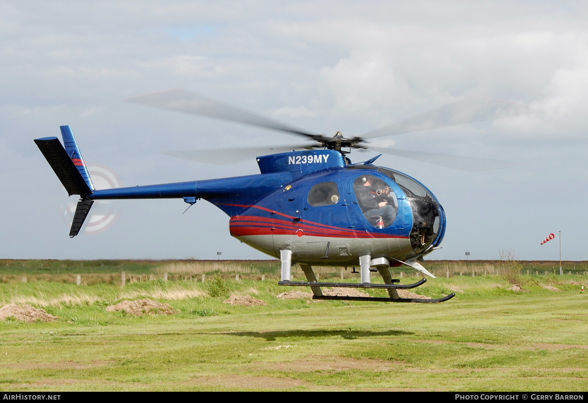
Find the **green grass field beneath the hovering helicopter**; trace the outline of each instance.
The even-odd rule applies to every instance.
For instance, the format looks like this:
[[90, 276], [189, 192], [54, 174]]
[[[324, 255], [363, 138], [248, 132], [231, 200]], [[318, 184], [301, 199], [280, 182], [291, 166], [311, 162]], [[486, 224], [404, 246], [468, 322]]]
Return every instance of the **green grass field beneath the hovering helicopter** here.
[[[0, 389], [585, 391], [586, 280], [526, 276], [529, 292], [515, 293], [503, 276], [457, 276], [416, 290], [456, 291], [442, 304], [280, 300], [296, 288], [228, 277], [219, 280], [225, 295], [215, 281], [6, 282], [3, 304], [32, 304], [59, 320], [0, 321]], [[223, 304], [230, 293], [268, 305]], [[182, 312], [105, 310], [143, 297]]]

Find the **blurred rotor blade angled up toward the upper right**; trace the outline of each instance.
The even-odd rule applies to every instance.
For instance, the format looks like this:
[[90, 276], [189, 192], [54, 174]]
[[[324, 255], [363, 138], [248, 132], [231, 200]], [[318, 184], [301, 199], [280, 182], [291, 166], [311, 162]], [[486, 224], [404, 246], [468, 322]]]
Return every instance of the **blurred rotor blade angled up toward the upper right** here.
[[496, 117], [499, 117], [500, 112], [506, 112], [512, 107], [512, 103], [502, 100], [470, 98], [450, 103], [441, 108], [422, 113], [422, 115], [410, 117], [410, 119], [401, 120], [360, 137], [374, 139], [376, 137], [402, 135], [403, 133], [483, 122], [484, 120], [496, 119]]

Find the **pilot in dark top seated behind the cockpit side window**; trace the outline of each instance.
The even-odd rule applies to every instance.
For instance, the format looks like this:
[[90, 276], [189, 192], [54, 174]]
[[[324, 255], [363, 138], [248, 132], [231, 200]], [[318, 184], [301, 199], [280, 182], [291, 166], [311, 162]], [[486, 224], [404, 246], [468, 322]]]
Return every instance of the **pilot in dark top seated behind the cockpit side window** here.
[[384, 189], [376, 189], [373, 186], [374, 179], [373, 176], [360, 177], [355, 194], [366, 218], [374, 221], [382, 217], [387, 227], [396, 220], [396, 206], [393, 197], [390, 197], [390, 188], [384, 186]]

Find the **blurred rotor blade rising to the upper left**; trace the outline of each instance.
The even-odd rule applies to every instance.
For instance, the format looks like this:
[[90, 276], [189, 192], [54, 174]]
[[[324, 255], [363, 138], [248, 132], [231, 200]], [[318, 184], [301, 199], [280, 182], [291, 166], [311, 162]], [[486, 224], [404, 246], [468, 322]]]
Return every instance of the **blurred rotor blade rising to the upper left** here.
[[127, 99], [128, 102], [141, 105], [156, 106], [158, 108], [181, 110], [214, 117], [215, 119], [230, 120], [231, 122], [244, 123], [245, 125], [265, 127], [266, 129], [280, 130], [295, 135], [314, 137], [312, 133], [303, 132], [296, 127], [288, 126], [275, 120], [268, 119], [235, 106], [206, 98], [197, 93], [185, 89], [172, 89], [169, 91], [155, 92], [147, 95], [136, 96]]

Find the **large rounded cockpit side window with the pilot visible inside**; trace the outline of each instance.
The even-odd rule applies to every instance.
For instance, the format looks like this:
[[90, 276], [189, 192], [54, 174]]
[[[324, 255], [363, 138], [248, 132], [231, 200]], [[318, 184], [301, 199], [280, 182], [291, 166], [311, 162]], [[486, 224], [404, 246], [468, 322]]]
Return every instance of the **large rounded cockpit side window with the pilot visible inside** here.
[[353, 183], [353, 190], [363, 215], [372, 226], [386, 228], [394, 223], [398, 204], [386, 182], [373, 175], [362, 175]]

